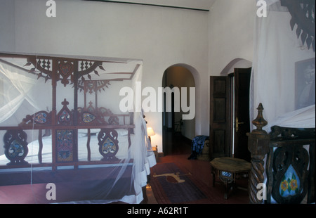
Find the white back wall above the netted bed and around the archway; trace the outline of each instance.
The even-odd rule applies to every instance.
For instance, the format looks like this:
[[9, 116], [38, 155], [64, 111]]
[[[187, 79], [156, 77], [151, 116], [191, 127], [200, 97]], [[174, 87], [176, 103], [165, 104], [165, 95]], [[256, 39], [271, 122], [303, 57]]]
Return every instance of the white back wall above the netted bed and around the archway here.
[[[199, 79], [195, 132], [208, 134], [208, 12], [79, 0], [55, 2], [56, 17], [48, 18], [45, 0], [0, 0], [5, 12], [0, 14], [0, 51], [143, 59], [142, 86], [155, 89], [162, 86], [166, 68], [189, 65]], [[146, 120], [156, 132], [152, 143], [160, 152], [162, 115], [147, 113]]]

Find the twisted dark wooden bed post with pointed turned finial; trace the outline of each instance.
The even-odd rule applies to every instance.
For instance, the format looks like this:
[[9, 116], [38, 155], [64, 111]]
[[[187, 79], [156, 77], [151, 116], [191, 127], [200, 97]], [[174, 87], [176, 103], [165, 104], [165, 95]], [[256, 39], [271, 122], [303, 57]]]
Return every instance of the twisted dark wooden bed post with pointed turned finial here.
[[[264, 161], [265, 155], [269, 150], [270, 135], [267, 134], [262, 128], [268, 124], [263, 118], [263, 106], [260, 103], [258, 105], [258, 116], [253, 120], [253, 124], [256, 126], [251, 133], [248, 133], [248, 150], [251, 153], [251, 172], [249, 175], [249, 200], [250, 203], [263, 203], [263, 195], [259, 195], [258, 191], [265, 191], [263, 186], [258, 184], [263, 183], [264, 180]], [[258, 186], [258, 188], [257, 188]], [[263, 189], [261, 189], [263, 188]], [[259, 195], [259, 198], [257, 197]]]

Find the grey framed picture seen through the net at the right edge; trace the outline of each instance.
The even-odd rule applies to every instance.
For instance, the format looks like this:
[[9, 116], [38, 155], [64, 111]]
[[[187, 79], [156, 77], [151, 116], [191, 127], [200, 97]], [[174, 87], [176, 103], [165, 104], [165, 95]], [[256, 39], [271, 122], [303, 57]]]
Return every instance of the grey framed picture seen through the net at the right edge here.
[[315, 58], [295, 63], [296, 96], [295, 108], [315, 104]]

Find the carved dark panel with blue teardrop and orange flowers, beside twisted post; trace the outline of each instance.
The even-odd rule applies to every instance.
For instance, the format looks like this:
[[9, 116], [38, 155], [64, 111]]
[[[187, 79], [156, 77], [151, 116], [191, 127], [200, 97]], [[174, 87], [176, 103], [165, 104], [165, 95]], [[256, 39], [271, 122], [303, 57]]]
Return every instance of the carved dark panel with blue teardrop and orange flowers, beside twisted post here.
[[301, 203], [308, 193], [308, 150], [293, 141], [273, 142], [272, 147], [276, 149], [270, 150], [267, 168], [272, 198], [277, 203]]

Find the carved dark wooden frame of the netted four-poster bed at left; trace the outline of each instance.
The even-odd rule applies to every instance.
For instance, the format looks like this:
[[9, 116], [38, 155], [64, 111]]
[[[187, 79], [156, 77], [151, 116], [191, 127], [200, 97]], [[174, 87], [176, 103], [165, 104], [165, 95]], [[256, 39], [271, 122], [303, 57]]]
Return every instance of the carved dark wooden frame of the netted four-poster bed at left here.
[[[26, 115], [25, 119], [20, 122], [16, 127], [0, 127], [0, 131], [6, 131], [4, 134], [4, 148], [5, 155], [10, 160], [7, 165], [1, 165], [1, 169], [8, 171], [1, 172], [0, 186], [14, 186], [22, 184], [30, 184], [32, 177], [32, 184], [48, 184], [48, 183], [65, 183], [71, 182], [74, 185], [72, 190], [67, 188], [60, 188], [63, 193], [60, 193], [60, 198], [54, 202], [67, 202], [75, 200], [91, 200], [89, 199], [89, 191], [86, 186], [89, 186], [91, 181], [100, 180], [105, 188], [111, 188], [114, 179], [119, 174], [119, 170], [113, 171], [114, 168], [119, 169], [121, 160], [118, 160], [115, 155], [119, 150], [118, 133], [116, 129], [126, 129], [128, 131], [128, 143], [131, 146], [131, 134], [133, 134], [133, 114], [113, 114], [110, 110], [98, 106], [98, 92], [104, 90], [105, 86], [111, 80], [88, 80], [90, 73], [98, 74], [98, 70], [104, 70], [102, 62], [96, 60], [80, 60], [76, 58], [63, 58], [51, 56], [31, 56], [31, 55], [13, 55], [1, 54], [5, 57], [22, 57], [27, 58], [26, 65], [34, 65], [29, 73], [37, 75], [37, 77], [44, 77], [45, 81], [51, 79], [52, 85], [52, 110], [47, 112], [45, 110], [38, 111], [33, 115]], [[81, 66], [81, 69], [79, 69]], [[135, 70], [131, 73], [130, 79], [138, 70], [139, 65], [136, 65]], [[37, 70], [37, 73], [35, 72]], [[122, 80], [122, 79], [113, 79]], [[64, 86], [73, 84], [74, 89], [74, 107], [72, 110], [68, 108], [68, 101], [64, 99], [61, 102], [62, 109], [56, 110], [56, 86], [60, 81]], [[79, 107], [78, 104], [78, 91], [84, 91], [84, 105]], [[95, 94], [95, 103], [86, 102], [86, 93], [90, 92]], [[39, 153], [38, 163], [32, 163], [32, 166], [25, 161], [28, 153], [28, 143], [26, 130], [38, 129]], [[78, 131], [86, 129], [87, 132], [87, 160], [78, 160]], [[100, 129], [98, 132], [98, 146], [99, 152], [103, 156], [102, 160], [91, 160], [91, 129]], [[51, 132], [51, 145], [52, 145], [52, 162], [42, 162], [43, 148], [43, 132]], [[13, 149], [14, 146], [18, 146]], [[96, 146], [96, 145], [94, 145]], [[107, 198], [119, 199], [124, 195], [131, 195], [131, 188], [133, 180], [131, 179], [132, 162], [127, 165], [124, 174], [119, 179], [117, 188], [121, 195], [107, 196]], [[94, 167], [100, 165], [107, 165], [107, 167]], [[88, 166], [81, 168], [82, 166]], [[51, 167], [51, 170], [34, 170], [32, 175], [29, 172], [13, 171], [11, 169], [36, 169], [39, 167]], [[60, 170], [64, 167], [65, 169]], [[71, 168], [71, 169], [68, 169]], [[102, 174], [110, 175], [109, 179], [102, 181]], [[124, 188], [126, 192], [124, 193]], [[47, 190], [45, 190], [47, 191]], [[91, 191], [95, 192], [95, 191]], [[106, 190], [104, 191], [106, 192]], [[81, 193], [86, 193], [81, 195]], [[94, 193], [95, 194], [95, 193]], [[96, 195], [94, 195], [96, 196]], [[145, 187], [143, 187], [143, 197], [147, 200], [145, 194]], [[45, 198], [45, 194], [43, 194]], [[103, 200], [93, 198], [93, 200]], [[45, 200], [44, 200], [45, 201]], [[52, 203], [48, 201], [48, 203]]]

